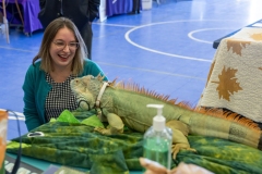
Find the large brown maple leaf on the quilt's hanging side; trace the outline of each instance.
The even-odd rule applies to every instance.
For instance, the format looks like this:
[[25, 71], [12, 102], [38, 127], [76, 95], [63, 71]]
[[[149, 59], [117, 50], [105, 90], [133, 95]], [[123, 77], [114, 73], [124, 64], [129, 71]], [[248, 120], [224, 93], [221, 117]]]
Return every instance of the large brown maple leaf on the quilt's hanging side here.
[[219, 82], [212, 82], [215, 84], [218, 84], [216, 90], [218, 91], [219, 99], [224, 98], [227, 101], [230, 101], [230, 96], [234, 95], [234, 92], [237, 92], [238, 90], [242, 90], [242, 88], [239, 86], [239, 83], [237, 83], [236, 78], [236, 72], [238, 70], [230, 69], [224, 66], [222, 73], [218, 75]]

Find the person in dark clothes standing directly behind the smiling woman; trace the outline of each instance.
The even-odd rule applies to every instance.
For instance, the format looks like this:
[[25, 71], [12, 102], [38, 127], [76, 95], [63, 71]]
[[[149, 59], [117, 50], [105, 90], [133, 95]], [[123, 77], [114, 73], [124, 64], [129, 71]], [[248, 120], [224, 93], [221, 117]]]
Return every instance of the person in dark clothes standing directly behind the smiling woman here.
[[92, 58], [92, 22], [98, 16], [100, 0], [39, 0], [38, 18], [44, 28], [57, 17], [64, 16], [74, 22]]

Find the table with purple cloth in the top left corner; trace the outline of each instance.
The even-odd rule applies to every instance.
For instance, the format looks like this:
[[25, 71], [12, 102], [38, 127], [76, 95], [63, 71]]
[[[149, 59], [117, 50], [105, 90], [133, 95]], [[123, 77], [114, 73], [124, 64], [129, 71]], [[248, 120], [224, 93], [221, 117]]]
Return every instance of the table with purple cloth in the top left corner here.
[[[2, 2], [2, 0], [0, 0]], [[22, 14], [24, 20], [24, 33], [32, 34], [34, 30], [41, 29], [43, 26], [37, 17], [40, 7], [38, 0], [17, 0], [19, 4], [22, 5]], [[15, 4], [15, 0], [5, 0], [5, 3]], [[8, 20], [12, 18], [12, 13], [8, 12]], [[14, 23], [21, 22], [15, 18]], [[22, 24], [22, 22], [20, 23]]]

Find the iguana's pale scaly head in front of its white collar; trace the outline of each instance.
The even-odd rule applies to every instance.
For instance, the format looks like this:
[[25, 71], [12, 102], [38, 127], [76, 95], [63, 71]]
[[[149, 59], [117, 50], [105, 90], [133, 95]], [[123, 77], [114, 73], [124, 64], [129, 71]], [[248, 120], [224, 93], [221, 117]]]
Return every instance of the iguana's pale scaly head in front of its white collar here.
[[91, 110], [95, 107], [96, 98], [103, 86], [103, 76], [92, 75], [74, 78], [71, 80], [71, 89], [76, 97], [79, 108]]

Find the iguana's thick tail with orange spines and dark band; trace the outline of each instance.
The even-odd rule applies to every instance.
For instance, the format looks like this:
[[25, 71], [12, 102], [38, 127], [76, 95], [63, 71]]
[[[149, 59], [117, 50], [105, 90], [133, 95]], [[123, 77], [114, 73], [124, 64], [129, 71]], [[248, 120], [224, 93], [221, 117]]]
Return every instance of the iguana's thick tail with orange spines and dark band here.
[[179, 121], [189, 125], [189, 134], [228, 139], [262, 150], [262, 132], [257, 124], [237, 113], [216, 111], [192, 111]]

